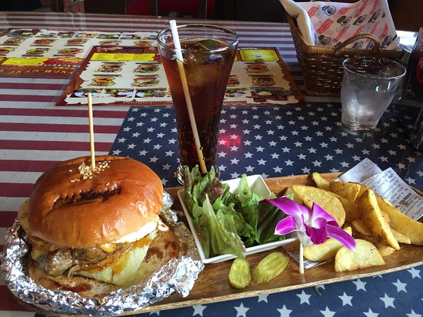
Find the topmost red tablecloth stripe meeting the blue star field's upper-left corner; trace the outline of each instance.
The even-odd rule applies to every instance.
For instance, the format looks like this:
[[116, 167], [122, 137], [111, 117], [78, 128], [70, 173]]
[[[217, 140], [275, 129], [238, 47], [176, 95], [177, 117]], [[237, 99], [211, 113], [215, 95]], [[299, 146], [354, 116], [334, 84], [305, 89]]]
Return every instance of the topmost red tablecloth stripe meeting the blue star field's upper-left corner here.
[[[2, 95], [0, 95], [1, 98]], [[35, 100], [33, 100], [35, 101]], [[128, 111], [104, 111], [93, 109], [94, 118], [125, 118]], [[38, 116], [38, 117], [87, 117], [87, 108], [81, 110], [73, 110], [66, 108], [0, 108], [0, 115], [4, 116]]]

